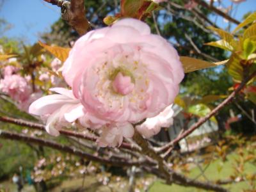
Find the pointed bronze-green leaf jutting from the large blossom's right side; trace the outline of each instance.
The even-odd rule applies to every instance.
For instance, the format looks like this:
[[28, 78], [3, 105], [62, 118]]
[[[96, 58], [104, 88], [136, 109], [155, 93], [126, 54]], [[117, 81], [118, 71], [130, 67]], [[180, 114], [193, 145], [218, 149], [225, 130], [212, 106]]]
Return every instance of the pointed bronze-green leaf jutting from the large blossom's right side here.
[[186, 56], [180, 57], [180, 62], [182, 63], [185, 73], [193, 72], [195, 70], [200, 70], [203, 68], [216, 67], [218, 65], [223, 65], [223, 64], [227, 63], [227, 61], [228, 60], [220, 61], [220, 62], [216, 62], [216, 63], [210, 63], [208, 61], [198, 60], [195, 58], [189, 58]]

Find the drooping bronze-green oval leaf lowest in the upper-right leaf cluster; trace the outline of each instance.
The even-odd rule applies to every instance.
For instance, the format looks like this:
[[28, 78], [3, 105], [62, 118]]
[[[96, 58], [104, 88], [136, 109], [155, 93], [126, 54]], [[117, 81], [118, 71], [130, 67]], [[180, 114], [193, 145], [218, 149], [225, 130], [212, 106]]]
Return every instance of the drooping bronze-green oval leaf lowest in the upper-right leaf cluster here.
[[233, 53], [227, 63], [228, 73], [238, 82], [243, 79], [243, 67], [240, 61], [241, 58], [236, 53]]

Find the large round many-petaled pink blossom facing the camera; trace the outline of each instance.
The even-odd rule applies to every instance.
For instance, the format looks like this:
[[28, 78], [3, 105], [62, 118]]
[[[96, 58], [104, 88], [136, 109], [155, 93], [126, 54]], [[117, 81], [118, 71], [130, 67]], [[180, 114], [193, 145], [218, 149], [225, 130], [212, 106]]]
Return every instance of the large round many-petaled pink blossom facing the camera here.
[[106, 122], [136, 123], [172, 104], [184, 77], [177, 51], [136, 19], [77, 40], [63, 76], [84, 109]]

